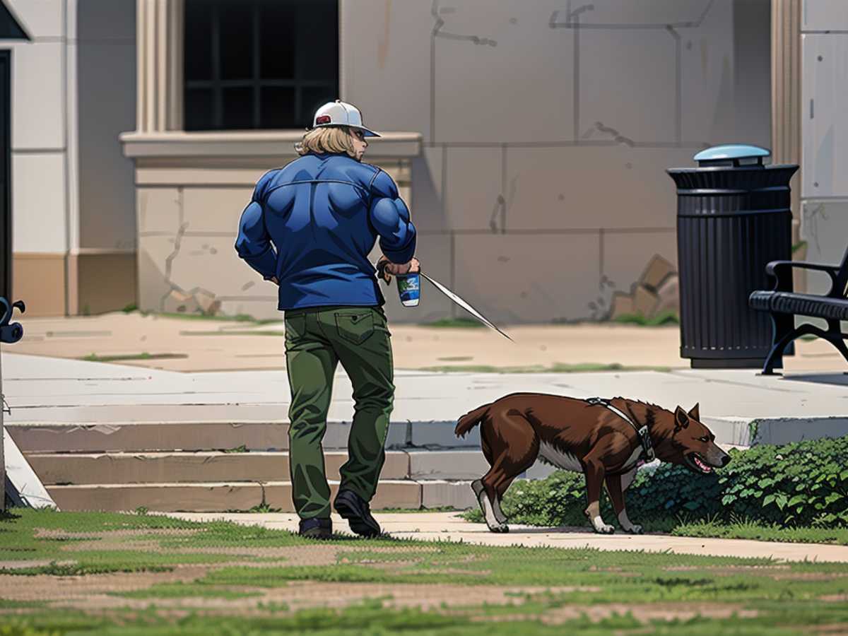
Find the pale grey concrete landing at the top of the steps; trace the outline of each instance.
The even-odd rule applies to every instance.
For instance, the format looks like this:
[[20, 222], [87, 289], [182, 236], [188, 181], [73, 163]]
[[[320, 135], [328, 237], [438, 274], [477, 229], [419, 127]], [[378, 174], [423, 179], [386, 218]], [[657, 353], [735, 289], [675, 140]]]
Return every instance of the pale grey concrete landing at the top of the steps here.
[[[848, 376], [755, 371], [616, 371], [593, 373], [444, 373], [398, 371], [389, 444], [476, 445], [453, 436], [456, 419], [514, 392], [575, 398], [624, 396], [667, 409], [700, 403], [703, 421], [722, 444], [785, 443], [848, 433]], [[3, 354], [3, 393], [10, 425], [127, 423], [284, 423], [285, 371], [180, 373], [80, 360]], [[329, 421], [349, 425], [352, 389], [336, 377]], [[346, 432], [342, 429], [346, 439]]]

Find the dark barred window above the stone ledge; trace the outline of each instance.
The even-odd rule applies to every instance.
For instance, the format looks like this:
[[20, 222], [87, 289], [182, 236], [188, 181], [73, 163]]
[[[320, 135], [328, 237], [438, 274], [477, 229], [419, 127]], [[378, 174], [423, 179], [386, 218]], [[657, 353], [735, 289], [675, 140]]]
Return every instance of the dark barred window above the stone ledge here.
[[298, 128], [338, 98], [338, 0], [186, 0], [187, 131]]

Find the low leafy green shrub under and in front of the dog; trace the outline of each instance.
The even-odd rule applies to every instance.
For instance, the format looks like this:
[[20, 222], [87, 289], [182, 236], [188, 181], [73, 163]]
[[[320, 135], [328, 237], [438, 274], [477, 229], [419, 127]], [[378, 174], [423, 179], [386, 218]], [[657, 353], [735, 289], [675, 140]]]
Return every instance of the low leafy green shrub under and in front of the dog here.
[[[730, 455], [728, 466], [710, 475], [672, 464], [639, 471], [625, 494], [630, 516], [636, 522], [745, 518], [779, 527], [848, 526], [848, 436], [763, 444]], [[502, 507], [511, 522], [583, 526], [585, 478], [557, 471], [516, 482]], [[601, 514], [615, 519], [605, 496]]]

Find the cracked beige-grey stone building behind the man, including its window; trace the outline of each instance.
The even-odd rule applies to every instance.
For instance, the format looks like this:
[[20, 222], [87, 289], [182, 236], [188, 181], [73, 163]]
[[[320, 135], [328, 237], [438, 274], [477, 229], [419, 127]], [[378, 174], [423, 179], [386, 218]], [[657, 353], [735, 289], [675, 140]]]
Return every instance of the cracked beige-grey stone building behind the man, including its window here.
[[[840, 0], [3, 2], [31, 37], [9, 47], [14, 295], [33, 314], [276, 316], [237, 220], [334, 98], [385, 132], [367, 160], [398, 181], [425, 271], [496, 321], [603, 319], [656, 256], [673, 266], [665, 170], [711, 145], [802, 163], [811, 254], [840, 243]], [[801, 64], [814, 44], [825, 61]], [[390, 317], [457, 315], [437, 294], [407, 310], [389, 290]]]

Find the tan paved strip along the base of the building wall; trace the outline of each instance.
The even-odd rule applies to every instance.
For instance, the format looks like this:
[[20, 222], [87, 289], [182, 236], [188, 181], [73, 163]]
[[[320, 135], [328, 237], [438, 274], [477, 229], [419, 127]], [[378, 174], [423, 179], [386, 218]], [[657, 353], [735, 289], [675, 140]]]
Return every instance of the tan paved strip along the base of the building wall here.
[[[3, 352], [69, 359], [92, 354], [117, 356], [124, 365], [168, 371], [280, 371], [286, 364], [280, 322], [257, 324], [138, 313], [69, 318], [23, 315], [20, 321], [24, 339], [3, 347]], [[514, 343], [485, 327], [391, 323], [389, 328], [397, 369], [689, 367], [689, 360], [680, 358], [677, 326], [505, 326]], [[801, 341], [796, 348], [798, 353], [784, 360], [789, 371], [848, 371], [840, 354], [822, 340]], [[142, 358], [142, 354], [148, 357]]]

